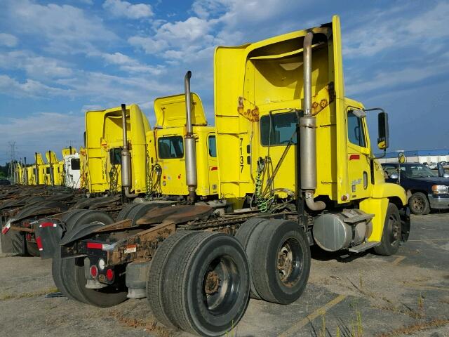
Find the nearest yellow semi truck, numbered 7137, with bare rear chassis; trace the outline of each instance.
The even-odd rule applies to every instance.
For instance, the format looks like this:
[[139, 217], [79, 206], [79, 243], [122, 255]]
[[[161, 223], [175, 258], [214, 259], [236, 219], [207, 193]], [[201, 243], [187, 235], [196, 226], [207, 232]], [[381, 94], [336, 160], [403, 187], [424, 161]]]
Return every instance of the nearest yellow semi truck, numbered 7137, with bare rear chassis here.
[[[68, 218], [53, 258], [63, 293], [98, 306], [147, 296], [163, 324], [220, 336], [239, 322], [250, 296], [279, 304], [301, 296], [309, 245], [391, 255], [406, 242], [406, 192], [384, 182], [366, 123], [366, 114], [379, 112], [377, 145], [386, 150], [388, 117], [345, 97], [337, 16], [218, 47], [214, 71], [218, 194], [227, 207], [187, 198], [137, 220], [86, 225]], [[184, 151], [193, 194], [189, 79]], [[127, 152], [123, 146], [122, 158]], [[175, 145], [167, 153], [176, 154]]]

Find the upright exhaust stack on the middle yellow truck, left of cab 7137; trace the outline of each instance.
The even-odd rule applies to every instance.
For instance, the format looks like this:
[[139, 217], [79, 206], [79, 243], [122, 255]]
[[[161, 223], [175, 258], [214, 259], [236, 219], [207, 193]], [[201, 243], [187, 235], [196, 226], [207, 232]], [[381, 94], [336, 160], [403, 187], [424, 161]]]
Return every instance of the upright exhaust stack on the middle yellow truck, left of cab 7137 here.
[[189, 190], [188, 201], [195, 201], [195, 190], [198, 185], [196, 177], [196, 148], [194, 138], [194, 127], [192, 125], [192, 93], [190, 92], [190, 78], [192, 72], [189, 70], [185, 74], [185, 113], [186, 113], [186, 135], [185, 135], [185, 176], [186, 184]]

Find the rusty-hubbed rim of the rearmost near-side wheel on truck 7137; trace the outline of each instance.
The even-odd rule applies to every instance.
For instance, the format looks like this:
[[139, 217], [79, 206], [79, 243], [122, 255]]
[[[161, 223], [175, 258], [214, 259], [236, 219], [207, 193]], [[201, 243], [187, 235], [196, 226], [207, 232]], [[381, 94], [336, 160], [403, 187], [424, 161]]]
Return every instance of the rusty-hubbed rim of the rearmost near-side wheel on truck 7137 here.
[[210, 261], [203, 275], [203, 303], [213, 315], [223, 315], [236, 303], [240, 279], [230, 256]]

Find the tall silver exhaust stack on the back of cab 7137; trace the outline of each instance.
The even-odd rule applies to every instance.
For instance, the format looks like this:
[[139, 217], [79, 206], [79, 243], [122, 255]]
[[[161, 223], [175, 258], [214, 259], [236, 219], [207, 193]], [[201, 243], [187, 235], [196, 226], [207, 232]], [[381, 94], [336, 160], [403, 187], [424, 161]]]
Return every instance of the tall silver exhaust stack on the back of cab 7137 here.
[[304, 37], [304, 116], [300, 118], [300, 182], [307, 207], [321, 211], [323, 201], [314, 201], [316, 190], [316, 117], [311, 114], [311, 41], [314, 34]]

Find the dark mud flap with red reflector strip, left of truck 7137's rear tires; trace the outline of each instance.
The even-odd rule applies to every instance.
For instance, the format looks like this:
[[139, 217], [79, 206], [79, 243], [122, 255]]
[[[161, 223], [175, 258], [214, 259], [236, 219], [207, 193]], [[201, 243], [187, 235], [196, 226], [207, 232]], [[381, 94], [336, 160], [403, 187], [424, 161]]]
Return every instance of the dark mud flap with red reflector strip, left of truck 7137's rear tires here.
[[57, 219], [42, 219], [34, 225], [34, 232], [41, 258], [53, 258], [65, 232], [64, 225]]

